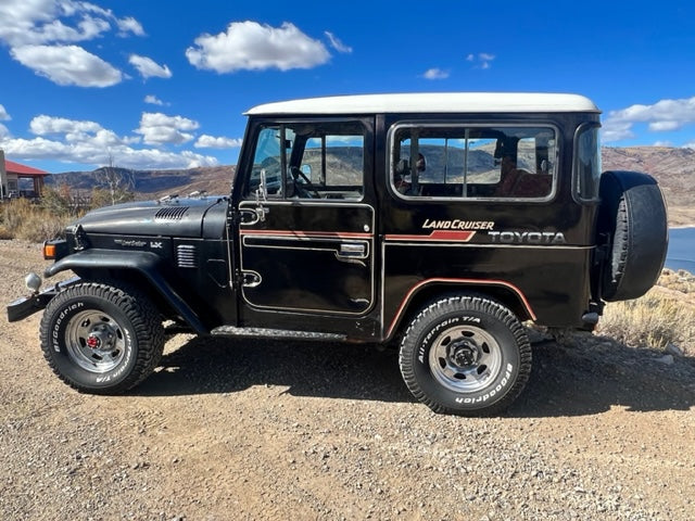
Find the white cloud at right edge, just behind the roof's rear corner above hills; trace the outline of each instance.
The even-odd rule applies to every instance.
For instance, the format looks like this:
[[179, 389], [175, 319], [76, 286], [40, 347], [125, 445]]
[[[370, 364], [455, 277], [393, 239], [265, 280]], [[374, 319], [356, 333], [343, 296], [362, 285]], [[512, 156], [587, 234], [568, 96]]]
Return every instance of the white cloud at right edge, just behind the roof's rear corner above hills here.
[[660, 100], [653, 105], [635, 104], [619, 111], [610, 111], [603, 124], [604, 141], [633, 138], [633, 126], [646, 123], [649, 131], [679, 130], [695, 123], [695, 97], [679, 100]]

